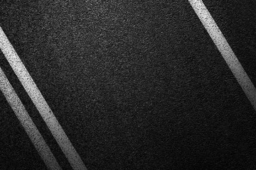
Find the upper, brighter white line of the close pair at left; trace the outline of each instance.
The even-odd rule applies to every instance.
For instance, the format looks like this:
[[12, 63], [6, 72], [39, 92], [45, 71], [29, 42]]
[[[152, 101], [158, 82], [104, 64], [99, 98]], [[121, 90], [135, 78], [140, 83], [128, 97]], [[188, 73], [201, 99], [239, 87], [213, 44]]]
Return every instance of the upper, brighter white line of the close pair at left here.
[[85, 164], [82, 162], [82, 159], [78, 155], [78, 152], [76, 152], [63, 128], [60, 126], [60, 123], [58, 123], [55, 115], [53, 115], [53, 111], [51, 111], [48, 103], [46, 103], [45, 98], [43, 98], [43, 95], [31, 78], [31, 75], [28, 73], [26, 67], [21, 62], [21, 59], [18, 57], [14, 47], [12, 47], [1, 27], [0, 48], [12, 69], [14, 69], [14, 72], [17, 75], [19, 81], [21, 81], [21, 84], [28, 93], [28, 96], [31, 98], [43, 120], [46, 122], [46, 125], [48, 126], [50, 132], [53, 134], [53, 137], [58, 142], [58, 145], [60, 145], [60, 149], [62, 149], [65, 157], [68, 159], [68, 162], [70, 162], [70, 165], [75, 170], [86, 169]]

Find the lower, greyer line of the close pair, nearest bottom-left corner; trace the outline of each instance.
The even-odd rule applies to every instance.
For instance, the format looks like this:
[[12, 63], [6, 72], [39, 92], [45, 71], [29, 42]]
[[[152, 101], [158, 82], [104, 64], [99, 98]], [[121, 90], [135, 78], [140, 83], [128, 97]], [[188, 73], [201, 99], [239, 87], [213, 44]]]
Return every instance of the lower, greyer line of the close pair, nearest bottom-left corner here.
[[31, 120], [31, 117], [28, 115], [26, 108], [21, 103], [21, 100], [18, 98], [14, 88], [11, 86], [1, 67], [0, 90], [3, 92], [11, 108], [14, 110], [16, 117], [18, 120], [20, 120], [21, 125], [26, 130], [28, 137], [30, 138], [31, 142], [33, 142], [33, 145], [36, 147], [36, 150], [40, 154], [48, 169], [61, 169], [60, 165], [53, 156], [53, 153], [50, 151], [50, 148], [46, 144], [46, 141], [43, 140], [42, 135]]

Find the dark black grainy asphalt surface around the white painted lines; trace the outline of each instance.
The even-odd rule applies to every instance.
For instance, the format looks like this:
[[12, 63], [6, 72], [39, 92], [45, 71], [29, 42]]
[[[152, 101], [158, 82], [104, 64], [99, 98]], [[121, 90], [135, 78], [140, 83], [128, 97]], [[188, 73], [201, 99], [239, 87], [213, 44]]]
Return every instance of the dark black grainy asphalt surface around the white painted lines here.
[[[256, 86], [256, 1], [203, 3]], [[255, 109], [188, 1], [6, 0], [0, 26], [88, 170], [256, 169]], [[1, 92], [0, 169], [47, 169]]]

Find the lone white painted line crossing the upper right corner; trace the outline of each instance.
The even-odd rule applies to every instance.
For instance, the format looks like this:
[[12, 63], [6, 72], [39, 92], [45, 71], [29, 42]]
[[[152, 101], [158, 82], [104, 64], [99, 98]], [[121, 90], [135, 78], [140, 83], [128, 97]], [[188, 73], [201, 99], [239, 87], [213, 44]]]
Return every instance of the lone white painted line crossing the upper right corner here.
[[201, 0], [188, 0], [256, 111], [256, 89]]

